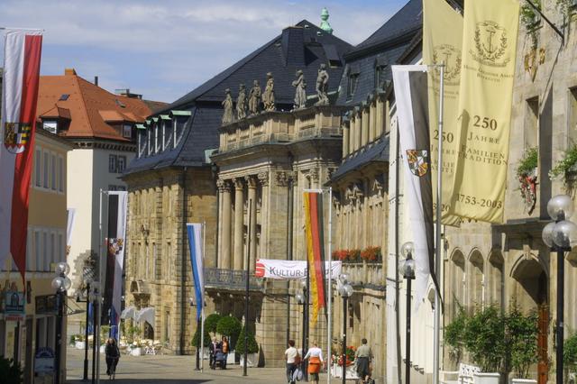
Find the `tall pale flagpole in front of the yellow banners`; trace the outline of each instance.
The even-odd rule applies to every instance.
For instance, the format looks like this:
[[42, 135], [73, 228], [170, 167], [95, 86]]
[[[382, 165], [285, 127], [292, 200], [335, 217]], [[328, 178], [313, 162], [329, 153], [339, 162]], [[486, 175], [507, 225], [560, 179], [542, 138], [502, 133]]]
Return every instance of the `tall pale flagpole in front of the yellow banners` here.
[[[436, 164], [436, 228], [435, 228], [435, 276], [440, 276], [441, 272], [441, 208], [443, 195], [443, 104], [444, 104], [444, 61], [439, 66], [441, 71], [439, 87], [439, 135], [438, 135], [438, 157]], [[437, 292], [435, 295], [435, 322], [434, 328], [434, 351], [433, 351], [433, 384], [439, 383], [439, 349], [441, 335], [441, 300]]]

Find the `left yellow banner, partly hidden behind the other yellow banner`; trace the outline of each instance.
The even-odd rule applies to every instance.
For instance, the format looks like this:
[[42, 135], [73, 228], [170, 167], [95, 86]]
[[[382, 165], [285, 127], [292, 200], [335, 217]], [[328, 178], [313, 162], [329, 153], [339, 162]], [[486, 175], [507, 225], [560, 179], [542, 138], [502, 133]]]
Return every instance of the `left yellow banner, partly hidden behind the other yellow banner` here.
[[[438, 169], [438, 141], [443, 141], [441, 222], [458, 225], [461, 218], [449, 215], [453, 201], [455, 163], [459, 125], [459, 85], [461, 83], [461, 46], [463, 44], [463, 16], [445, 0], [423, 0], [423, 63], [444, 64], [444, 123], [439, 135], [440, 69], [428, 71], [429, 129], [431, 137], [431, 171], [433, 206], [436, 209], [436, 179]], [[441, 136], [441, 137], [440, 137]]]

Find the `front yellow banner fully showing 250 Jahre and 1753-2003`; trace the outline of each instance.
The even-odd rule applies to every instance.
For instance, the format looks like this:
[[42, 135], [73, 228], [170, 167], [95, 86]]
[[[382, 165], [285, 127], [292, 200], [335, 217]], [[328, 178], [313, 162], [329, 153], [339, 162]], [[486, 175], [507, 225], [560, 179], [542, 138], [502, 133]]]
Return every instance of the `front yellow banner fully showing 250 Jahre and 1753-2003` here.
[[518, 20], [518, 0], [470, 1], [465, 7], [451, 214], [503, 221]]

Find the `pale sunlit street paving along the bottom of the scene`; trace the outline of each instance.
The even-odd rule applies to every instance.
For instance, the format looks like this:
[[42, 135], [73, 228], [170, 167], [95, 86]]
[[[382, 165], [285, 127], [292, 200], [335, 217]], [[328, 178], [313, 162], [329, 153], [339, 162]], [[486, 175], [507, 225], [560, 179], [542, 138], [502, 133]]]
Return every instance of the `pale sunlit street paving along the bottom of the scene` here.
[[[88, 356], [88, 377], [91, 377], [91, 351]], [[194, 356], [174, 355], [123, 355], [116, 370], [116, 381], [120, 383], [139, 384], [199, 384], [199, 383], [286, 383], [283, 368], [249, 368], [248, 376], [243, 377], [243, 367], [229, 365], [227, 370], [210, 370], [205, 361], [204, 372], [195, 369]], [[84, 351], [70, 348], [67, 351], [67, 383], [80, 384], [84, 367]], [[108, 381], [104, 353], [100, 355], [100, 380]], [[326, 382], [325, 374], [321, 374], [321, 382]], [[333, 379], [336, 382], [338, 379]], [[351, 381], [352, 383], [353, 381]]]

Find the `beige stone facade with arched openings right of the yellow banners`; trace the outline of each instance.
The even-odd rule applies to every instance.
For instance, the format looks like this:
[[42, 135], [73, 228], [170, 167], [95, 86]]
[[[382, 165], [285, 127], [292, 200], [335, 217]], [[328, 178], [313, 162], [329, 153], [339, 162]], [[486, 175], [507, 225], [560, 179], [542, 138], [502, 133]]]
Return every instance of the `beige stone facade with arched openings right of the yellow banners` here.
[[[577, 65], [575, 55], [574, 8], [543, 2], [544, 14], [557, 26], [560, 36], [540, 18], [533, 25], [521, 23], [517, 38], [517, 64], [510, 126], [508, 181], [503, 224], [466, 223], [445, 229], [444, 325], [456, 311], [455, 297], [466, 308], [495, 304], [506, 310], [516, 302], [524, 311], [536, 310], [540, 334], [537, 342], [540, 362], [532, 367], [531, 379], [553, 382], [554, 327], [556, 313], [557, 257], [542, 241], [542, 231], [551, 219], [546, 211], [549, 199], [568, 194], [575, 200], [572, 178], [549, 178], [549, 172], [577, 137]], [[527, 151], [537, 148], [534, 198], [520, 193], [519, 162]], [[577, 215], [570, 218], [573, 222]], [[577, 327], [575, 301], [577, 268], [575, 251], [564, 259], [565, 338]], [[453, 362], [446, 357], [444, 366]]]

